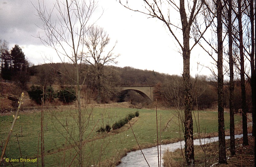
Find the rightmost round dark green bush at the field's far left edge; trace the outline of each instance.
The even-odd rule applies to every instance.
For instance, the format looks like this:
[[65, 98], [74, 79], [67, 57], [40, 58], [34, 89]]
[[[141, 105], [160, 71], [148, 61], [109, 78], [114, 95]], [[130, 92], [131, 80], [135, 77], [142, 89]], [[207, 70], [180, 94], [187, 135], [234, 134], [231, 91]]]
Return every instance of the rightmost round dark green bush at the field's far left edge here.
[[76, 100], [76, 91], [72, 87], [63, 88], [59, 92], [59, 100], [70, 103]]

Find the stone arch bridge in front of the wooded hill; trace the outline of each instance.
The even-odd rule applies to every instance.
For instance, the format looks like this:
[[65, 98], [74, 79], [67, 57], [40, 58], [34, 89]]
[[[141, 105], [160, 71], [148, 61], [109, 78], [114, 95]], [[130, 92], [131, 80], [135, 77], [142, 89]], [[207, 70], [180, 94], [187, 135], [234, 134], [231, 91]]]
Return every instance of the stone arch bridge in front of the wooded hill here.
[[120, 91], [136, 91], [137, 93], [139, 93], [142, 97], [149, 99], [150, 101], [154, 101], [153, 99], [153, 91], [155, 89], [155, 86], [132, 86], [132, 85], [128, 85], [128, 86], [119, 86]]

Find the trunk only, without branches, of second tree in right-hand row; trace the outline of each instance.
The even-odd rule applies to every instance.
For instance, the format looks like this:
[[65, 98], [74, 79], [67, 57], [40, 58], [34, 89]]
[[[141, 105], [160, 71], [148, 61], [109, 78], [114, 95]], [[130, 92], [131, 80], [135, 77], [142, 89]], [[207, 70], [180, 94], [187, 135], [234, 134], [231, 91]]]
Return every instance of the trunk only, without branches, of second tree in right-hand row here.
[[223, 41], [222, 41], [222, 3], [216, 1], [217, 9], [217, 40], [218, 40], [218, 133], [219, 133], [219, 163], [227, 163], [224, 106], [223, 106]]

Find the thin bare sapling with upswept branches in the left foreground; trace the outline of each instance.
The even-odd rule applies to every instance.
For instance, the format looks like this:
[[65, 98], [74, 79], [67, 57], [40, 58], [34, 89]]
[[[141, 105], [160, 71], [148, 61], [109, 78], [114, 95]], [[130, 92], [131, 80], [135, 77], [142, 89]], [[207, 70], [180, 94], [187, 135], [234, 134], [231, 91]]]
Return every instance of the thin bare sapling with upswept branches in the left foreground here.
[[38, 38], [45, 46], [51, 47], [56, 51], [64, 67], [64, 58], [66, 57], [69, 62], [73, 64], [75, 77], [72, 77], [66, 69], [65, 75], [73, 81], [73, 86], [76, 88], [78, 121], [77, 126], [79, 129], [79, 136], [75, 143], [78, 150], [79, 166], [83, 166], [82, 158], [82, 142], [84, 134], [84, 122], [81, 111], [80, 91], [84, 83], [81, 81], [81, 64], [82, 58], [80, 53], [84, 50], [84, 40], [86, 38], [87, 30], [89, 29], [89, 21], [92, 13], [97, 7], [94, 0], [81, 1], [81, 0], [66, 0], [61, 2], [56, 1], [52, 9], [47, 9], [46, 5], [41, 4], [34, 6], [37, 15], [42, 21], [43, 25], [40, 27], [44, 31], [44, 35], [38, 34]]

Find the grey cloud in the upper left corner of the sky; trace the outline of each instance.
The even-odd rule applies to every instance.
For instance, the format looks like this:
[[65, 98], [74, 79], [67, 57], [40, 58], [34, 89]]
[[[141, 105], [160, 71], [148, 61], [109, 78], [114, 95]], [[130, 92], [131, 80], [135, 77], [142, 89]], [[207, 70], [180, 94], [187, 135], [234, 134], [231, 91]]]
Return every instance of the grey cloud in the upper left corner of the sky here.
[[[42, 1], [40, 1], [42, 2]], [[40, 30], [36, 25], [41, 20], [36, 16], [37, 0], [12, 0], [0, 2], [0, 39], [18, 45], [42, 45], [37, 36]], [[53, 1], [46, 1], [51, 6]]]

